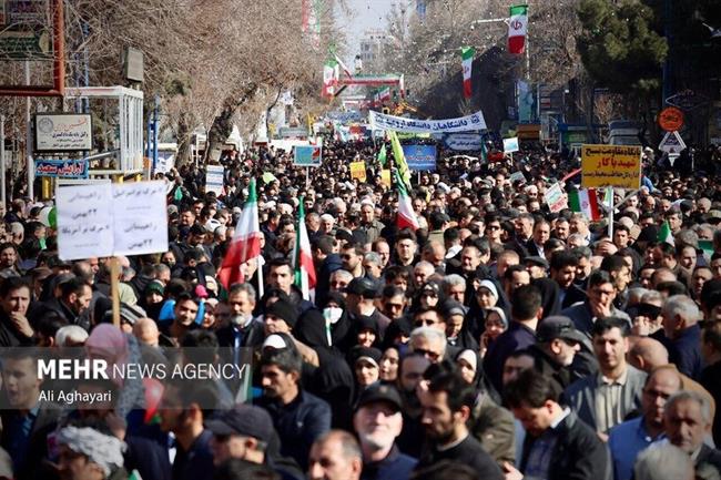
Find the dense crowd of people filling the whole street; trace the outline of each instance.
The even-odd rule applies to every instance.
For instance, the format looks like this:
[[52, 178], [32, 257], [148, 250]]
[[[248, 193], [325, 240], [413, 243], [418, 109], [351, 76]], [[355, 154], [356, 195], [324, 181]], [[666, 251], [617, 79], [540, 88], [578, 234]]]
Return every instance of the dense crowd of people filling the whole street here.
[[[2, 206], [0, 478], [721, 478], [718, 151], [683, 172], [644, 150], [641, 188], [616, 190], [591, 222], [546, 202], [556, 183], [578, 187], [567, 151], [488, 162], [439, 147], [434, 172], [413, 173], [412, 229], [379, 147], [326, 139], [309, 172], [291, 152], [230, 152], [220, 195], [203, 168], [160, 175], [169, 249], [119, 257], [120, 325], [109, 259], [61, 259], [42, 204]], [[262, 254], [226, 286], [252, 180]], [[309, 297], [295, 285], [301, 205]], [[203, 347], [253, 375], [111, 379], [102, 405], [41, 401], [29, 351], [65, 347], [111, 364]]]

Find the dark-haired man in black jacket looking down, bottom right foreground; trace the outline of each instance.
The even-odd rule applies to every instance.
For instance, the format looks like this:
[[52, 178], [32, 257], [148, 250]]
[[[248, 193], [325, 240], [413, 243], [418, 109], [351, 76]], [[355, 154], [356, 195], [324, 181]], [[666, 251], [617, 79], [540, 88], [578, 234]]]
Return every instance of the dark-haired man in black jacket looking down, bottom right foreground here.
[[504, 464], [506, 480], [612, 477], [606, 446], [576, 413], [558, 404], [559, 392], [548, 377], [535, 369], [526, 370], [506, 386], [505, 394], [527, 433], [518, 469]]

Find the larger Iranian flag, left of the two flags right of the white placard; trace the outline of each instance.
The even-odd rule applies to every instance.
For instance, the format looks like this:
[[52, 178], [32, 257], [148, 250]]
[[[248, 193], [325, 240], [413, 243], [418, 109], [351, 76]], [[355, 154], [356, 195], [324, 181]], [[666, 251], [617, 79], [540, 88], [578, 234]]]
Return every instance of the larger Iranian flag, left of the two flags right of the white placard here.
[[252, 178], [247, 201], [243, 205], [241, 218], [235, 226], [235, 235], [231, 239], [223, 264], [217, 272], [217, 278], [226, 289], [233, 284], [245, 282], [241, 273], [241, 265], [261, 255], [261, 235], [255, 178]]

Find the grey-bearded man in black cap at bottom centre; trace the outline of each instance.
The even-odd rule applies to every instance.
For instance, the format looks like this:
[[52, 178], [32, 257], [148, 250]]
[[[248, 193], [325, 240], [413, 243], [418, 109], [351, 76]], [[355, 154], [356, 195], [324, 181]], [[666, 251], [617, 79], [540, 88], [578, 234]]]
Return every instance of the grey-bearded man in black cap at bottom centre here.
[[368, 387], [358, 399], [353, 425], [363, 451], [362, 480], [407, 479], [417, 460], [400, 453], [396, 437], [403, 429], [400, 395], [389, 385]]

